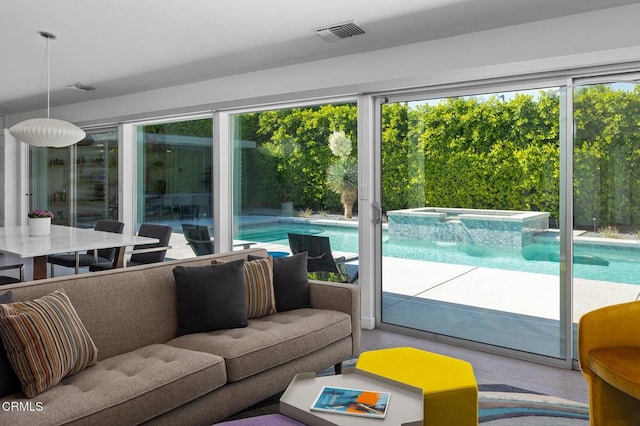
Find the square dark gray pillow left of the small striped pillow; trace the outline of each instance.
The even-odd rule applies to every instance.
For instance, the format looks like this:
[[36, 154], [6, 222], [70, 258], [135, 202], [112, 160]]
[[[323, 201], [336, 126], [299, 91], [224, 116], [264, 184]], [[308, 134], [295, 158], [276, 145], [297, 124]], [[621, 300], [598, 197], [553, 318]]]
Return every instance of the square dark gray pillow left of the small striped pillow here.
[[244, 260], [173, 268], [178, 335], [246, 327]]

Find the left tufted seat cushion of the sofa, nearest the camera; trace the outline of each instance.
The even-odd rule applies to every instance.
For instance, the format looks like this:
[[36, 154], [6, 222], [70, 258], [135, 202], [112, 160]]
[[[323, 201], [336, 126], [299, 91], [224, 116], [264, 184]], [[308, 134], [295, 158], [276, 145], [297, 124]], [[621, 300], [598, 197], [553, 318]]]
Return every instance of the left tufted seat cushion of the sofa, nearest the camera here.
[[[218, 356], [150, 345], [98, 362], [38, 395], [44, 410], [4, 412], [7, 424], [138, 424], [226, 382]], [[21, 398], [0, 399], [24, 401]]]

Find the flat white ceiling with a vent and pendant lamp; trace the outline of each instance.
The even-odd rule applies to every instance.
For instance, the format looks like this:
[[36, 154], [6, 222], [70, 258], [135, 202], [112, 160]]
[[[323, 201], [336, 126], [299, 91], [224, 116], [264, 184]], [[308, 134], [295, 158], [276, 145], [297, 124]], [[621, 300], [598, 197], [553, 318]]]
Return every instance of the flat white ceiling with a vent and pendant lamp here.
[[[630, 0], [1, 0], [0, 114], [640, 3]], [[365, 31], [327, 43], [314, 29]], [[560, 42], [560, 41], [559, 41]], [[79, 93], [74, 83], [95, 86]]]

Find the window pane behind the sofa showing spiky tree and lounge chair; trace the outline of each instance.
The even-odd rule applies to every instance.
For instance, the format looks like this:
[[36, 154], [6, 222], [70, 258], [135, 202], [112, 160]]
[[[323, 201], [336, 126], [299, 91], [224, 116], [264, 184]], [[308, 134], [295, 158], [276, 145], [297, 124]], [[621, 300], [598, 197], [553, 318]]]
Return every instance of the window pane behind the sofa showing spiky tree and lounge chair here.
[[325, 259], [331, 259], [325, 269], [335, 271], [333, 258], [344, 256], [351, 272], [339, 266], [333, 274], [317, 269], [313, 276], [355, 278], [356, 105], [238, 114], [232, 138], [235, 244], [257, 242], [286, 255], [292, 252], [289, 233], [328, 237], [331, 254]]

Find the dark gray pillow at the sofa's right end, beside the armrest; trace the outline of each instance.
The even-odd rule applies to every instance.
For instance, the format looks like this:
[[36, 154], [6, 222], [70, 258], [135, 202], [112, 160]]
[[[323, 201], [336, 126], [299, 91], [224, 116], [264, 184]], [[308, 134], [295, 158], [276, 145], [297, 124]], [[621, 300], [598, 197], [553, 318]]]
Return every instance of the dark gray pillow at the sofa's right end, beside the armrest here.
[[278, 312], [311, 307], [306, 251], [273, 258], [273, 292]]

